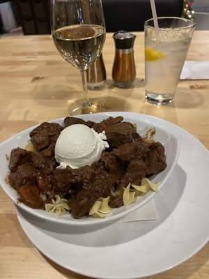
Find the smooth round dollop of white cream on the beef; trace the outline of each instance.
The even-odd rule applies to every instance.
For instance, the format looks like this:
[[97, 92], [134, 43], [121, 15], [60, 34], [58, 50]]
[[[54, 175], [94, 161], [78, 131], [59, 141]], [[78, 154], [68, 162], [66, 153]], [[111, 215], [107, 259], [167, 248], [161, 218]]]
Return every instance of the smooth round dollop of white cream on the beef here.
[[61, 167], [72, 169], [91, 165], [100, 160], [104, 149], [109, 148], [104, 131], [95, 130], [83, 124], [74, 124], [62, 130], [55, 145], [55, 159]]

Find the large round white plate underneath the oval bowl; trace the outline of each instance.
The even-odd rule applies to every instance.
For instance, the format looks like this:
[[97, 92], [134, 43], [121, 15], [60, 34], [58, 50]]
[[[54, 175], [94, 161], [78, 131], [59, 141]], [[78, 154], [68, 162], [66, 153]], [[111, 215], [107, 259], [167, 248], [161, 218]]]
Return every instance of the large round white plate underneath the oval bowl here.
[[58, 226], [17, 209], [24, 232], [44, 255], [85, 276], [132, 279], [167, 271], [208, 242], [209, 153], [181, 128], [160, 119], [154, 123], [181, 142], [178, 165], [154, 198], [157, 220]]

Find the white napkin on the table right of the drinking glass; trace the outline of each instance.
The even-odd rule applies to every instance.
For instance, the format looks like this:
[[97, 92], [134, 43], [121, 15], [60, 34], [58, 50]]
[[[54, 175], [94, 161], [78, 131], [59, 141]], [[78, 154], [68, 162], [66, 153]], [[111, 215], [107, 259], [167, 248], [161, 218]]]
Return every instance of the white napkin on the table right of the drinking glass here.
[[208, 80], [209, 61], [185, 61], [180, 80]]

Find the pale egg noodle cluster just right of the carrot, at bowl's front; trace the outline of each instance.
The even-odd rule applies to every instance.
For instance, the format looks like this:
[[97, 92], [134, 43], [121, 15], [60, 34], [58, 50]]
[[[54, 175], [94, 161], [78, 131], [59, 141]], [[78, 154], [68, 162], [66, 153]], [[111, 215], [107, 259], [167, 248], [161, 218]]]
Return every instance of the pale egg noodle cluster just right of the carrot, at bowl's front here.
[[45, 204], [45, 209], [48, 212], [55, 212], [56, 216], [61, 216], [66, 210], [70, 210], [70, 206], [67, 199], [61, 199], [59, 195], [55, 195], [55, 199], [52, 199], [52, 204]]

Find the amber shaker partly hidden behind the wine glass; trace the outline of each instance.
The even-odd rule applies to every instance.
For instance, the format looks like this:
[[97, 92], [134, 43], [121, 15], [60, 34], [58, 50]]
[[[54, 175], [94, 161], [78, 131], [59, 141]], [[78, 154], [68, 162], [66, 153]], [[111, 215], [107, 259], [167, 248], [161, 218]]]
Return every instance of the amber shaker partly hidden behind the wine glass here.
[[106, 70], [104, 67], [104, 61], [101, 53], [98, 59], [87, 70], [88, 89], [101, 89], [104, 86], [105, 82]]

